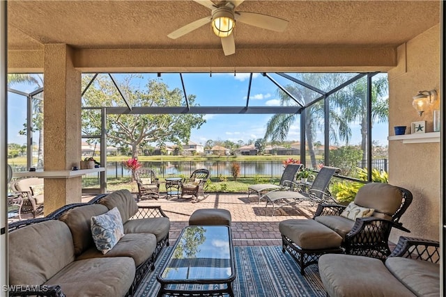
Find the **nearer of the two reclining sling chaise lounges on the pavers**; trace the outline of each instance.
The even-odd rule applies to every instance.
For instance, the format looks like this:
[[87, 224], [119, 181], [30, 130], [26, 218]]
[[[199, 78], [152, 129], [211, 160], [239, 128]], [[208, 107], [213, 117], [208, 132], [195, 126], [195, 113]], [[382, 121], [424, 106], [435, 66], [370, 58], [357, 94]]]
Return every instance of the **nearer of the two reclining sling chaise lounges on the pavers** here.
[[[293, 182], [292, 191], [270, 191], [262, 196], [266, 199], [266, 207], [272, 204], [272, 216], [274, 212], [286, 205], [309, 201], [312, 203], [336, 202], [328, 191], [328, 185], [333, 175], [339, 175], [341, 170], [335, 167], [324, 166], [319, 170], [314, 182], [309, 186]], [[308, 189], [306, 189], [308, 187]], [[277, 207], [277, 204], [279, 206]]]

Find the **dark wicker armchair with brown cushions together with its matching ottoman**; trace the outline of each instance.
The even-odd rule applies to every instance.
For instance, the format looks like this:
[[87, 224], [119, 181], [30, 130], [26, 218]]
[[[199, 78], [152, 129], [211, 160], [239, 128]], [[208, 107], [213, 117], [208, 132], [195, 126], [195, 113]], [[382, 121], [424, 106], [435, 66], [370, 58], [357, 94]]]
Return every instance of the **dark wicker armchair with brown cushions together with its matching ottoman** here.
[[299, 263], [302, 274], [325, 253], [344, 252], [384, 260], [390, 255], [392, 227], [410, 232], [399, 219], [411, 202], [412, 193], [405, 188], [365, 184], [348, 207], [318, 204], [314, 220], [280, 222], [282, 251], [289, 252]]

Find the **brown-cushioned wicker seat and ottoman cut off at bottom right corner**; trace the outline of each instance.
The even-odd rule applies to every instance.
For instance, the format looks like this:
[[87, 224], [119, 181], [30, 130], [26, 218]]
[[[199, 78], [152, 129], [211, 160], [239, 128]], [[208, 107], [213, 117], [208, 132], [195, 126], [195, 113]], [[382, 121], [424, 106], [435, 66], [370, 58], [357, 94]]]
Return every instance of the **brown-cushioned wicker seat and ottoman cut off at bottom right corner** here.
[[401, 236], [382, 262], [355, 255], [319, 259], [321, 280], [330, 297], [440, 296], [440, 243]]

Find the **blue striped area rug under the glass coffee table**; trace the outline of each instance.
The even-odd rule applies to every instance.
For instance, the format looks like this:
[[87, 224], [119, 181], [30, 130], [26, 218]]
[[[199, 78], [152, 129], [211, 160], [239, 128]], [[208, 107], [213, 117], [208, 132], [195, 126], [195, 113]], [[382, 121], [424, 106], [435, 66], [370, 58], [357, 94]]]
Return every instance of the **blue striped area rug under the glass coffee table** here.
[[[135, 297], [156, 296], [160, 284], [156, 275], [166, 261], [171, 247], [165, 248], [155, 263], [153, 273], [146, 275]], [[316, 265], [305, 268], [300, 275], [299, 266], [282, 246], [236, 246], [236, 280], [233, 282], [238, 297], [325, 297]]]

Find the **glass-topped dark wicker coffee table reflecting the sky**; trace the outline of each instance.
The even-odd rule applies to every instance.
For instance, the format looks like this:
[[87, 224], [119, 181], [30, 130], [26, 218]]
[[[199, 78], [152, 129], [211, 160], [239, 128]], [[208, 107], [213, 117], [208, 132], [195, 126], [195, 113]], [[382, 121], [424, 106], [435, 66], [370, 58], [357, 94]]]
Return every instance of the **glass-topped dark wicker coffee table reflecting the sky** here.
[[187, 226], [157, 275], [157, 296], [234, 296], [235, 278], [231, 227]]

